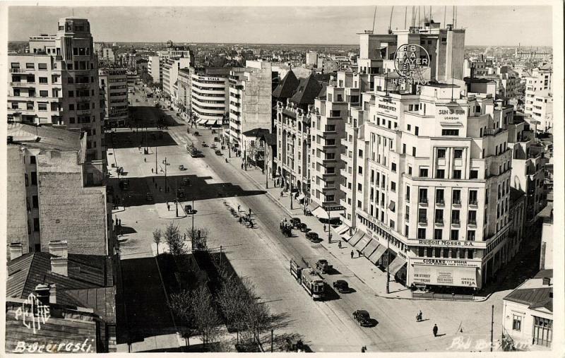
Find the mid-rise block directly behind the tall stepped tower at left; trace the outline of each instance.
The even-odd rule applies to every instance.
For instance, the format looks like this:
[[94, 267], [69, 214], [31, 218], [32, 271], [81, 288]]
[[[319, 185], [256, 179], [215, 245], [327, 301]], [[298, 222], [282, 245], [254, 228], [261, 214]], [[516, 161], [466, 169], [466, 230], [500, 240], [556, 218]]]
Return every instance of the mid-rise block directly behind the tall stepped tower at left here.
[[106, 128], [126, 126], [129, 117], [126, 68], [100, 68], [100, 100]]

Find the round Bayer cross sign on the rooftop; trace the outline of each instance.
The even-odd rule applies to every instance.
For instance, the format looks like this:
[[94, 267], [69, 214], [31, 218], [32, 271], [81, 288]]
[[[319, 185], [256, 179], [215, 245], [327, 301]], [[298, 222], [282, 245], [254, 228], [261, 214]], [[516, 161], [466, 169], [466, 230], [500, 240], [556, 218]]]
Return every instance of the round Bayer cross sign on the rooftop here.
[[429, 68], [429, 54], [418, 44], [401, 44], [394, 53], [394, 68], [412, 83], [425, 84], [424, 72]]

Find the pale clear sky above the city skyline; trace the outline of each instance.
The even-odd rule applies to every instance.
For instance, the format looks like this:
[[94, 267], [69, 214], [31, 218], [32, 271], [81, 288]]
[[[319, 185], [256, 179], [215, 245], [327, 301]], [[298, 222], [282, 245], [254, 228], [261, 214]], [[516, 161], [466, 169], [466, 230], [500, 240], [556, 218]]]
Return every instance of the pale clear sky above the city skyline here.
[[[444, 23], [444, 8], [432, 6], [434, 21]], [[451, 23], [453, 7], [446, 8]], [[408, 6], [408, 23], [411, 11]], [[357, 32], [373, 26], [374, 6], [10, 6], [8, 40], [54, 34], [57, 20], [73, 13], [88, 18], [95, 42], [358, 44]], [[552, 44], [550, 6], [458, 6], [457, 15], [467, 45]], [[390, 17], [391, 6], [376, 8], [376, 33], [386, 33]], [[404, 23], [405, 6], [395, 6], [391, 27]]]

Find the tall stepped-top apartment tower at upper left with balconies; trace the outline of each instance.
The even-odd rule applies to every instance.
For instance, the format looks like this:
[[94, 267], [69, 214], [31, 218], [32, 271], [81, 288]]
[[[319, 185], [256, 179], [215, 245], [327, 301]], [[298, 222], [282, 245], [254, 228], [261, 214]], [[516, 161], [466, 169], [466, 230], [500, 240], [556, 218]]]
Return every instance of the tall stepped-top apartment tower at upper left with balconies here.
[[89, 131], [86, 160], [102, 160], [98, 64], [90, 23], [61, 18], [57, 35], [30, 37], [30, 54], [8, 56], [8, 121]]

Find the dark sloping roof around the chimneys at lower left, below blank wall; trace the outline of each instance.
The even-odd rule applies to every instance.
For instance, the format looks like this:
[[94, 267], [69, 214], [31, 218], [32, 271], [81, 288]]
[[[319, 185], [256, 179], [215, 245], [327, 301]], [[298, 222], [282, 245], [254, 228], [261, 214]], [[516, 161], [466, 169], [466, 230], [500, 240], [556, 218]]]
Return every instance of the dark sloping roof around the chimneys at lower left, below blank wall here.
[[6, 297], [26, 298], [40, 284], [57, 285], [57, 304], [80, 305], [65, 290], [105, 287], [111, 276], [112, 261], [106, 256], [69, 253], [68, 276], [51, 272], [51, 257], [47, 252], [34, 252], [8, 262]]

